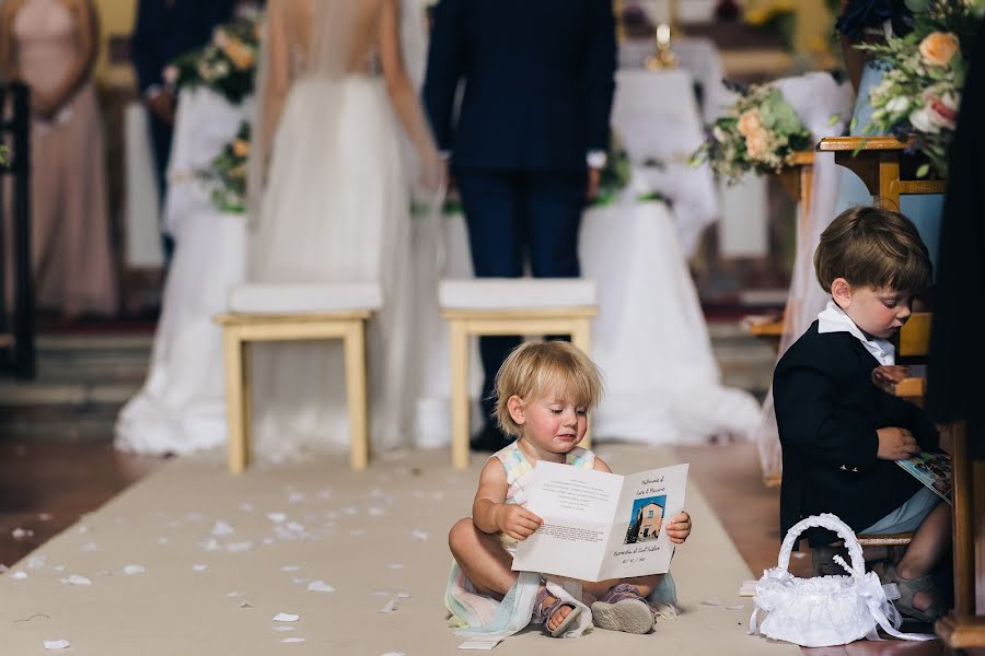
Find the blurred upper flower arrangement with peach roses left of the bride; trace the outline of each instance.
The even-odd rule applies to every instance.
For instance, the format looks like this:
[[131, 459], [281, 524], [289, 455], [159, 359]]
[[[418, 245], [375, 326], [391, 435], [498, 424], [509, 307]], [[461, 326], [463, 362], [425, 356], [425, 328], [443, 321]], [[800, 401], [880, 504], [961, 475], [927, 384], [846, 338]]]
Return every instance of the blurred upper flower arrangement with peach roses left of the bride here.
[[212, 31], [212, 39], [185, 52], [164, 69], [164, 81], [175, 86], [205, 85], [237, 105], [253, 93], [259, 55], [262, 19], [248, 12]]

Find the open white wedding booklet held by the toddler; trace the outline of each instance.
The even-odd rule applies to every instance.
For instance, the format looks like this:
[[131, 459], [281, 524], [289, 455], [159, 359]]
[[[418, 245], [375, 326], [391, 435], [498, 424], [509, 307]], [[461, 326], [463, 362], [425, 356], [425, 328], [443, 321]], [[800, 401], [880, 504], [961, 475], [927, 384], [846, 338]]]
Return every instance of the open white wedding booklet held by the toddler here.
[[518, 544], [513, 570], [581, 581], [665, 573], [667, 525], [684, 509], [686, 482], [687, 465], [617, 476], [537, 462], [526, 507], [544, 523]]

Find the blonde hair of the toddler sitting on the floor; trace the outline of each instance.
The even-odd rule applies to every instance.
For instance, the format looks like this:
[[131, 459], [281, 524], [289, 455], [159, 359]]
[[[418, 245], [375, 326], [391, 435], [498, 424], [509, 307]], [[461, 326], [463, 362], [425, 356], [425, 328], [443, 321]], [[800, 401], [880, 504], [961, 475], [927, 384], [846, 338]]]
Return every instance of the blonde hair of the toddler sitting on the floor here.
[[556, 391], [588, 412], [602, 398], [602, 374], [588, 355], [566, 341], [526, 342], [509, 354], [496, 374], [496, 423], [520, 436], [507, 402], [515, 395], [529, 402]]

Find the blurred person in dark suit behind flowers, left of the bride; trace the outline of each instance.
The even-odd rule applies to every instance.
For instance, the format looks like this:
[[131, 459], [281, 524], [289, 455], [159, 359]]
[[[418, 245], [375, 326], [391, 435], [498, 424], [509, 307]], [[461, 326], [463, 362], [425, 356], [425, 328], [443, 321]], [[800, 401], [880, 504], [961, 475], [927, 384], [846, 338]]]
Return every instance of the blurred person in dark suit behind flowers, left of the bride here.
[[[151, 142], [158, 190], [164, 198], [167, 159], [174, 126], [176, 98], [165, 83], [164, 68], [172, 59], [206, 44], [212, 28], [232, 16], [236, 0], [140, 0], [137, 23], [130, 36], [130, 58], [137, 69], [140, 93], [150, 109]], [[173, 244], [163, 236], [165, 258]]]

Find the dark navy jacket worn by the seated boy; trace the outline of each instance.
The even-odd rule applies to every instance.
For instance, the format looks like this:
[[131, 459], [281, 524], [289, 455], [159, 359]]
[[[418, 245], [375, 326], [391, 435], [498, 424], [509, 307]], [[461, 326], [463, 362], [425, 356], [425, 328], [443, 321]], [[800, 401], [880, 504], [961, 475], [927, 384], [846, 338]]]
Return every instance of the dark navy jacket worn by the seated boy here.
[[[876, 457], [878, 429], [908, 429], [923, 449], [937, 450], [937, 430], [918, 407], [872, 384], [879, 365], [848, 332], [818, 332], [818, 321], [784, 353], [773, 375], [776, 423], [784, 449], [780, 537], [819, 513], [834, 513], [856, 532], [903, 505], [920, 483]], [[810, 529], [812, 547], [835, 540]]]

